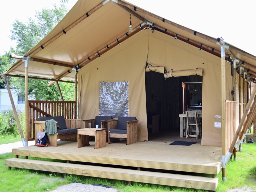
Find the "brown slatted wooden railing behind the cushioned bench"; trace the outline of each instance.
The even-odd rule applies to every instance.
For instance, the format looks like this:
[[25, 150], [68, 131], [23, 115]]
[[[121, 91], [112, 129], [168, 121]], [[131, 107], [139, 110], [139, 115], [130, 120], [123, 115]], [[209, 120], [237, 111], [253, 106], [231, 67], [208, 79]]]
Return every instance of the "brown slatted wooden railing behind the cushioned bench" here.
[[28, 101], [28, 141], [35, 140], [34, 120], [39, 117], [64, 116], [77, 119], [76, 101]]

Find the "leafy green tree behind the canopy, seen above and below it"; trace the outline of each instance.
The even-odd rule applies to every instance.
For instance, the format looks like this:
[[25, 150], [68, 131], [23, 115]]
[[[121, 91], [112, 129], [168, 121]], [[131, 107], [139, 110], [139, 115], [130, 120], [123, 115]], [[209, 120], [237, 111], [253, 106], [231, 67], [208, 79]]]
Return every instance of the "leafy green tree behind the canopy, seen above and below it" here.
[[[68, 0], [61, 0], [60, 7], [54, 4], [53, 9], [42, 8], [36, 12], [35, 18], [29, 17], [27, 23], [18, 19], [13, 23], [11, 39], [17, 41], [16, 55], [24, 55], [43, 39], [67, 14], [68, 8], [65, 6]], [[3, 60], [3, 63], [7, 62]], [[1, 65], [1, 63], [0, 63]], [[12, 65], [8, 65], [12, 66]], [[29, 79], [28, 95], [35, 100], [60, 100], [60, 95], [56, 84], [47, 86], [48, 81]], [[19, 88], [17, 94], [25, 94], [25, 79], [18, 78], [15, 85]], [[1, 84], [0, 84], [1, 86]], [[64, 100], [74, 100], [73, 83], [59, 83]]]

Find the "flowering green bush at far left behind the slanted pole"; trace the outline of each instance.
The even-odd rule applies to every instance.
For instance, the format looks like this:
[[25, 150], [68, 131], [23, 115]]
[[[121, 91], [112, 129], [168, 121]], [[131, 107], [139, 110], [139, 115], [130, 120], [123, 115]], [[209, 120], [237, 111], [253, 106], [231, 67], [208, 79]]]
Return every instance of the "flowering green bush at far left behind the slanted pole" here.
[[[17, 110], [22, 131], [25, 131], [25, 112]], [[18, 125], [13, 110], [6, 110], [0, 113], [0, 135], [13, 134], [19, 135]]]

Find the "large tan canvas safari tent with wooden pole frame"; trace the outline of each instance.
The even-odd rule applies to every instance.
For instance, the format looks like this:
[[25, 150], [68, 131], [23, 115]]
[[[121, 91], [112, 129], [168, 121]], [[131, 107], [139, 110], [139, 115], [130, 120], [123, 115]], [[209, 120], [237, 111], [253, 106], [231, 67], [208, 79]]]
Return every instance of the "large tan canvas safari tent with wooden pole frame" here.
[[[190, 99], [198, 90], [192, 93], [186, 86], [184, 95], [184, 83], [200, 84], [201, 145], [223, 147], [229, 139], [222, 155], [255, 112], [248, 113], [251, 101], [247, 106], [256, 79], [255, 56], [127, 1], [79, 0], [27, 54], [10, 57], [19, 60], [6, 76], [74, 80], [78, 119], [135, 116], [138, 141], [149, 140], [149, 114], [159, 115], [159, 131], [179, 131], [179, 114], [197, 104]], [[115, 99], [106, 101], [111, 92]]]

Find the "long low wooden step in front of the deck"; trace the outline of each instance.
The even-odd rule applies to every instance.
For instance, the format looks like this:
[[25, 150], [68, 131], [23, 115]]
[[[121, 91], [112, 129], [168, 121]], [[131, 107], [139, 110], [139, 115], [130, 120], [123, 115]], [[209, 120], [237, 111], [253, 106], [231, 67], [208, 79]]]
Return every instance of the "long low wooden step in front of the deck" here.
[[80, 165], [73, 163], [60, 163], [39, 161], [32, 159], [10, 158], [5, 159], [5, 166], [25, 169], [42, 170], [57, 173], [84, 175], [125, 181], [152, 183], [158, 185], [186, 187], [215, 191], [218, 178], [159, 173], [124, 168]]

